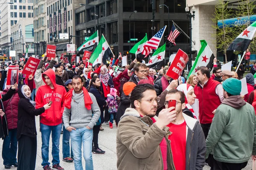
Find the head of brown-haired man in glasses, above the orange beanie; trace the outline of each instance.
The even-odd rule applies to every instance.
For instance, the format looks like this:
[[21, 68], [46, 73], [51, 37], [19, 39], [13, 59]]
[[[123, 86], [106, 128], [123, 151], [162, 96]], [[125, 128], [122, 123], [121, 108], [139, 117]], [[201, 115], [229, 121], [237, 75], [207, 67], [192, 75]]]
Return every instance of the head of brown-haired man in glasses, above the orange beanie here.
[[147, 66], [143, 63], [136, 63], [134, 65], [134, 74], [132, 74], [129, 82], [134, 82], [136, 85], [142, 79], [147, 79]]

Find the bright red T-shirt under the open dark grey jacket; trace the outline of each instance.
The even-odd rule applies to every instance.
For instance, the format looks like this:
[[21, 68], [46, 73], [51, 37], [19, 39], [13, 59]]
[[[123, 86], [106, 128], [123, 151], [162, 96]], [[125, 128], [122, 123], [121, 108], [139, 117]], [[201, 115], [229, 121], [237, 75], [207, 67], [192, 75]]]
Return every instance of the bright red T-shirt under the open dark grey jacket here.
[[186, 169], [186, 122], [180, 125], [167, 125], [172, 132], [168, 139], [171, 141], [172, 156], [176, 170]]

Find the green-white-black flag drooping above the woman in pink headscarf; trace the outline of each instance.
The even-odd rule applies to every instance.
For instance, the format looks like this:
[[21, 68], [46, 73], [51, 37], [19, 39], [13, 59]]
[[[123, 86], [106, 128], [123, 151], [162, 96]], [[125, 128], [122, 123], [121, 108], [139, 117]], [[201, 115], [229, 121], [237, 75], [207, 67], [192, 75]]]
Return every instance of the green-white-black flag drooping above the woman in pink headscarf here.
[[99, 41], [98, 46], [95, 48], [93, 54], [90, 57], [89, 62], [94, 65], [98, 63], [107, 63], [107, 58], [112, 53], [111, 48], [108, 45], [107, 40], [105, 39], [104, 35], [102, 34], [102, 38]]

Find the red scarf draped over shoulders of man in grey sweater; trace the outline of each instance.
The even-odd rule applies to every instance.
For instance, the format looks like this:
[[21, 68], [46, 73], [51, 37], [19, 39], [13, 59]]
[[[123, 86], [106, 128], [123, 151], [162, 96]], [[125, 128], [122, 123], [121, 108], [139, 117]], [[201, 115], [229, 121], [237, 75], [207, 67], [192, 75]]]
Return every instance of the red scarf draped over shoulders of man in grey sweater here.
[[[67, 94], [65, 94], [65, 107], [70, 109], [71, 108], [71, 100], [72, 100], [72, 96], [73, 96], [73, 88], [67, 92]], [[87, 108], [87, 110], [91, 110], [91, 104], [93, 104], [92, 99], [90, 98], [90, 95], [88, 93], [88, 91], [86, 90], [86, 88], [83, 87], [83, 93], [84, 93], [84, 105], [85, 108]]]

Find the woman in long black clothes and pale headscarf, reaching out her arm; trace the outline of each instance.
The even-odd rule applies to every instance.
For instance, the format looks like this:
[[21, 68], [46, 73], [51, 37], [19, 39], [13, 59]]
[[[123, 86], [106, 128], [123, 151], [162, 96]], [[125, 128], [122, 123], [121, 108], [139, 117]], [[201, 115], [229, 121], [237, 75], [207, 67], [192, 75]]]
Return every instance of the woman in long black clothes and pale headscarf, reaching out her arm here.
[[35, 170], [37, 139], [35, 116], [44, 113], [52, 103], [35, 109], [35, 102], [30, 99], [31, 90], [28, 85], [19, 88], [18, 103], [18, 168], [17, 170]]

